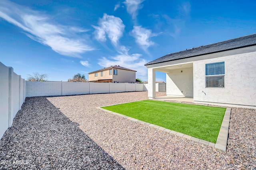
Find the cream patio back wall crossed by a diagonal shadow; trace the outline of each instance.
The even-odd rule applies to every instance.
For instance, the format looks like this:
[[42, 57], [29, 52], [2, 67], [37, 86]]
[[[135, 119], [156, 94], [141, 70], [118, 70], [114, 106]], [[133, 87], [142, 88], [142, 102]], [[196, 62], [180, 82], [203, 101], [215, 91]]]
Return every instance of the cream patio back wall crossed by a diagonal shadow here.
[[193, 96], [192, 67], [170, 70], [166, 73], [166, 95]]

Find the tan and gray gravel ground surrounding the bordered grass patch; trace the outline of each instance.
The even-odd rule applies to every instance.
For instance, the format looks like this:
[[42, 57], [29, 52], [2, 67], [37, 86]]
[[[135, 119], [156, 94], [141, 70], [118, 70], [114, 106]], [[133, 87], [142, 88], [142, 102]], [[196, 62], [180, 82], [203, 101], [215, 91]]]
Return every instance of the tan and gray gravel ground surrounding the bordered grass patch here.
[[256, 109], [232, 108], [226, 152], [96, 109], [147, 94], [26, 98], [0, 140], [11, 161], [0, 169], [256, 169]]

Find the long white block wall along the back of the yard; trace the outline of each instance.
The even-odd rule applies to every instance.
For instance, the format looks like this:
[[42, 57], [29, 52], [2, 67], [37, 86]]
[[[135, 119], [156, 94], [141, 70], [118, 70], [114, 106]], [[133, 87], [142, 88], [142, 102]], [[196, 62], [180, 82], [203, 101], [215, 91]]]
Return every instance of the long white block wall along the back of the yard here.
[[26, 97], [147, 91], [144, 84], [26, 81]]

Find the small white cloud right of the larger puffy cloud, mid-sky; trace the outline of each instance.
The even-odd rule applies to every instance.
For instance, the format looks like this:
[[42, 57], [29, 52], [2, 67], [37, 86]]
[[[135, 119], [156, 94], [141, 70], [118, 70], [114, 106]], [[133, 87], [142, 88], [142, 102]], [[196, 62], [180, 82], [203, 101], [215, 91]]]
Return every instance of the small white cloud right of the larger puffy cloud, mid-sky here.
[[154, 45], [154, 42], [150, 41], [149, 38], [156, 36], [156, 34], [152, 33], [151, 29], [145, 29], [141, 26], [133, 26], [130, 35], [136, 39], [136, 43], [138, 43], [144, 50], [151, 45]]

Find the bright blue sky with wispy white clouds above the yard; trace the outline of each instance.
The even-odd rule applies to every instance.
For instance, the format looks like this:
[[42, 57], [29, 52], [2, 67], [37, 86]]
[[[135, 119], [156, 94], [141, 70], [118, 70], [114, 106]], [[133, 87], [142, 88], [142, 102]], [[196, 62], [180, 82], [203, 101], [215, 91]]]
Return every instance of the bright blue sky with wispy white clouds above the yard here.
[[149, 61], [256, 33], [255, 9], [255, 0], [0, 0], [0, 62], [25, 79], [88, 79], [120, 65], [146, 81]]

